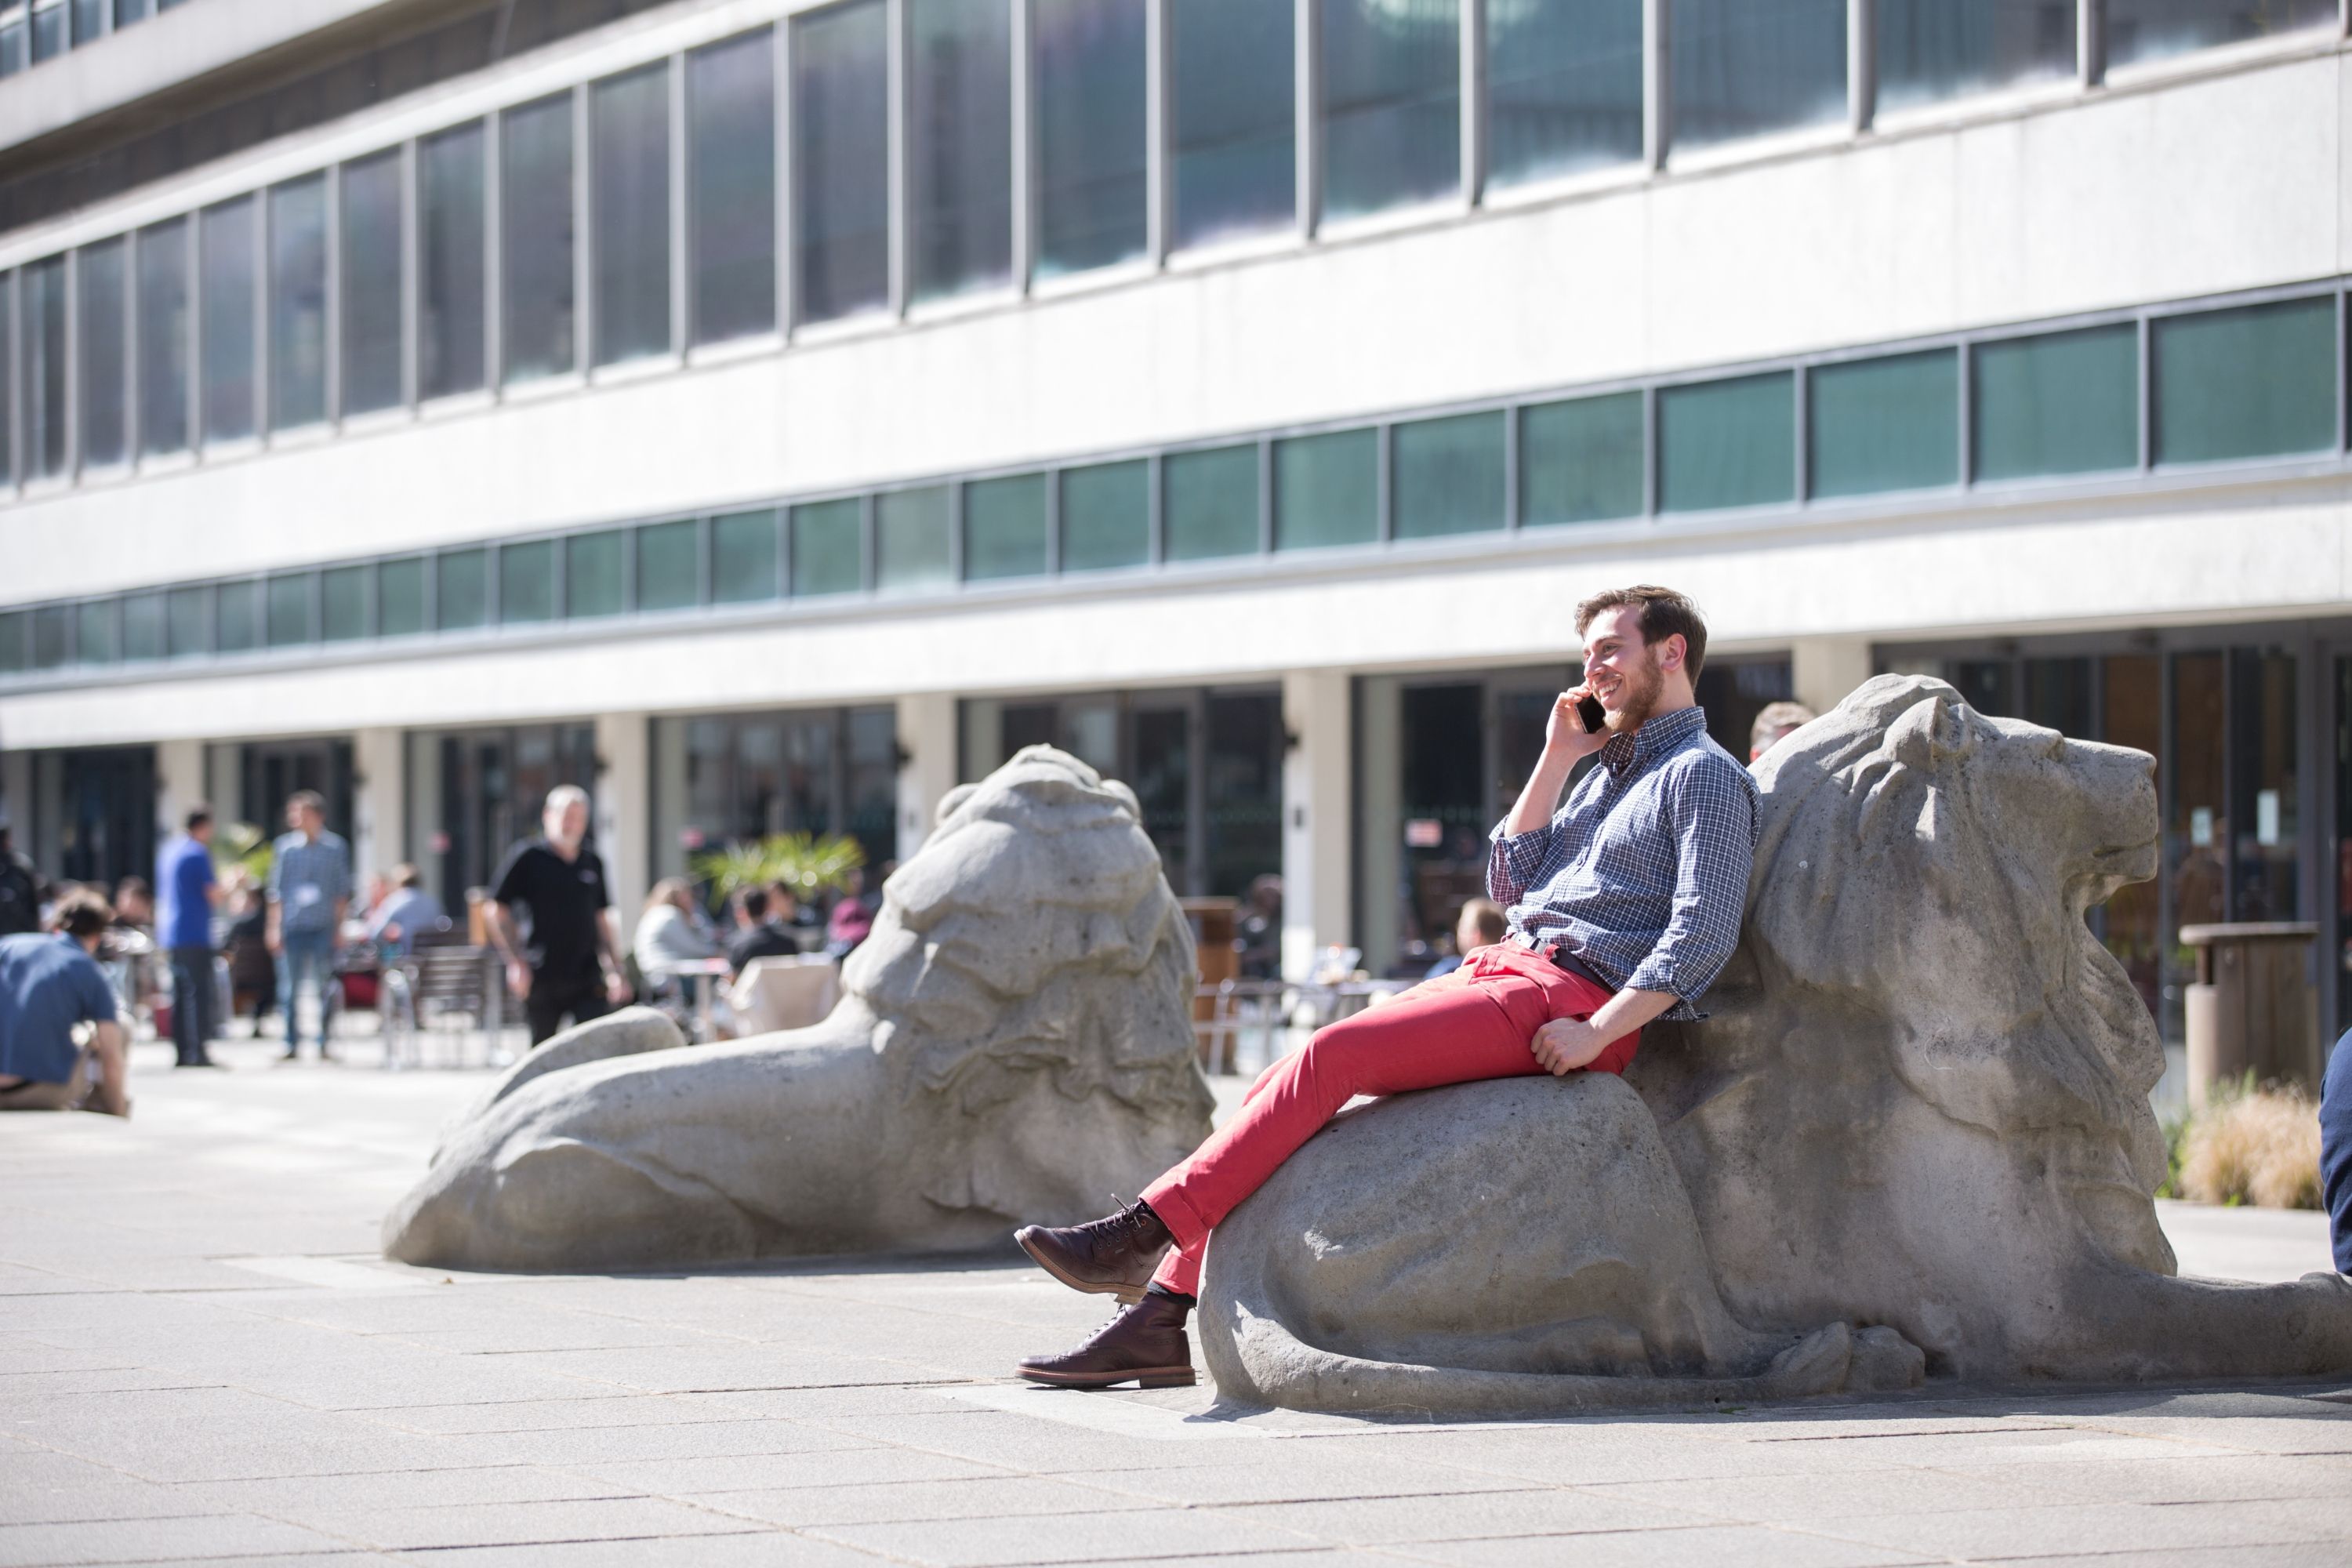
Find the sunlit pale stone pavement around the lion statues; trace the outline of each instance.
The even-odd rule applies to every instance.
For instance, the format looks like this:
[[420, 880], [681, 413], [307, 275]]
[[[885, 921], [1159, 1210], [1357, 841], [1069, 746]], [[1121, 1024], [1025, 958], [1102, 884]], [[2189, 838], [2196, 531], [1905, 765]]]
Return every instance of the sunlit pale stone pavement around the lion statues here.
[[[129, 1124], [0, 1119], [0, 1563], [2352, 1561], [2340, 1385], [1444, 1427], [1028, 1389], [1103, 1302], [1011, 1258], [383, 1265], [480, 1074], [226, 1056], [141, 1046]], [[2166, 1225], [2192, 1272], [2326, 1265], [2314, 1215]]]

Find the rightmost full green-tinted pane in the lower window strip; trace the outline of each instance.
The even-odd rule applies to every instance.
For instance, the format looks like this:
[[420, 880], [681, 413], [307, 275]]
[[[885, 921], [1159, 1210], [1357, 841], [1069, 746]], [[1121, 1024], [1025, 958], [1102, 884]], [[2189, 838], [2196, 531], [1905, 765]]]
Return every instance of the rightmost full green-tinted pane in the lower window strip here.
[[2336, 447], [2336, 301], [2152, 322], [2157, 461], [2213, 463]]

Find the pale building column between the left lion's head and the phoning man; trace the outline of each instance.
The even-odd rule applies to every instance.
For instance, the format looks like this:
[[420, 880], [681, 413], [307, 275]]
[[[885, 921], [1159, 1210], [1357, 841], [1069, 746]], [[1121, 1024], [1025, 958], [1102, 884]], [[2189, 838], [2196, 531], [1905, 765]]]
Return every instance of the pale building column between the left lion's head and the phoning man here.
[[1350, 919], [1348, 776], [1355, 762], [1348, 675], [1282, 677], [1282, 976], [1305, 980], [1315, 954], [1345, 947]]

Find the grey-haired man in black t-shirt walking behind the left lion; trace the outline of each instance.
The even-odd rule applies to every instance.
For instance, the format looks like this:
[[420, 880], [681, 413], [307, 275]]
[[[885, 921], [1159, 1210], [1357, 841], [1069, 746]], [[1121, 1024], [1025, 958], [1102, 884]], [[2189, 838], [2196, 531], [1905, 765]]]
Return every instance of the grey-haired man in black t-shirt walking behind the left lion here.
[[[534, 1046], [546, 1044], [567, 1013], [572, 1023], [588, 1023], [628, 1001], [604, 863], [588, 849], [588, 792], [579, 785], [548, 790], [539, 825], [546, 837], [515, 844], [489, 893], [489, 936], [506, 954], [506, 983], [522, 997]], [[517, 926], [517, 905], [529, 912], [529, 936]]]

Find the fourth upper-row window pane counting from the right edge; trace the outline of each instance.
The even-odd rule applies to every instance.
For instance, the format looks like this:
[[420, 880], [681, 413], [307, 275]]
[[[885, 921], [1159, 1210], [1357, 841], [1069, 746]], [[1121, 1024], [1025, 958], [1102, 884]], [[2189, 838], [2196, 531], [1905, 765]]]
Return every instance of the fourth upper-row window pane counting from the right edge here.
[[1517, 186], [1642, 155], [1642, 0], [1486, 9], [1486, 179]]

